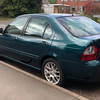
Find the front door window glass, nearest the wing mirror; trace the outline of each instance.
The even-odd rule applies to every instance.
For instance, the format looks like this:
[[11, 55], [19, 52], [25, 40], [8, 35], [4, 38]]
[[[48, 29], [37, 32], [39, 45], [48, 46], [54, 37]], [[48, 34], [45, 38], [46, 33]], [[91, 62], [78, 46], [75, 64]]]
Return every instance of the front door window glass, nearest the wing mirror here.
[[8, 25], [8, 27], [5, 30], [5, 33], [20, 34], [27, 20], [28, 17], [21, 17], [15, 19]]

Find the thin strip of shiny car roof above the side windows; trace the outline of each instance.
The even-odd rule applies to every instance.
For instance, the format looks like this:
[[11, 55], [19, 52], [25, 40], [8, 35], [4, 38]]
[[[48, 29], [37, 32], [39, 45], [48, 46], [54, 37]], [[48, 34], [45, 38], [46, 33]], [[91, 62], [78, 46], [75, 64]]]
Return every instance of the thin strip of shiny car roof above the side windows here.
[[25, 15], [21, 15], [21, 16], [40, 16], [40, 17], [52, 17], [52, 18], [57, 18], [57, 17], [64, 17], [64, 16], [77, 16], [77, 15], [73, 15], [73, 14], [25, 14]]

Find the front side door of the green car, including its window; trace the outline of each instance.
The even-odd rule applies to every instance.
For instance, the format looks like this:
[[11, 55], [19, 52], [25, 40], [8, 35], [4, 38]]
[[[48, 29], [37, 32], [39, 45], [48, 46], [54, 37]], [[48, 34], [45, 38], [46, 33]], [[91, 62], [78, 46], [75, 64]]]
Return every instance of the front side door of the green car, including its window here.
[[18, 59], [18, 43], [22, 29], [28, 17], [19, 17], [12, 21], [0, 35], [0, 53], [8, 57]]

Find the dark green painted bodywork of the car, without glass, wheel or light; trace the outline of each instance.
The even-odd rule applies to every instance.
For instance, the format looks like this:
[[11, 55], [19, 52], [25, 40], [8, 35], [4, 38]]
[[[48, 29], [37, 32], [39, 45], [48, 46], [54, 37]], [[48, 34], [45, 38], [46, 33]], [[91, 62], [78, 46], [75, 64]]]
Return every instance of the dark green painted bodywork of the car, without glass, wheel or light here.
[[[72, 15], [66, 14], [29, 14], [17, 17], [17, 19], [21, 17], [28, 17], [28, 19], [20, 34], [6, 34], [4, 31], [4, 34], [0, 35], [1, 55], [10, 57], [11, 59], [17, 60], [18, 62], [21, 61], [22, 63], [39, 70], [42, 69], [42, 63], [45, 59], [53, 57], [59, 62], [64, 74], [67, 77], [84, 81], [99, 80], [99, 78], [96, 78], [96, 75], [99, 75], [100, 69], [99, 59], [93, 61], [81, 61], [82, 53], [88, 46], [96, 45], [98, 50], [100, 50], [100, 40], [97, 38], [98, 36], [73, 36], [57, 21], [56, 18], [62, 16], [72, 17]], [[44, 19], [47, 22], [48, 26], [50, 26], [52, 29], [52, 35], [49, 39], [44, 38], [44, 35], [42, 37], [32, 37], [25, 35], [31, 18]]]

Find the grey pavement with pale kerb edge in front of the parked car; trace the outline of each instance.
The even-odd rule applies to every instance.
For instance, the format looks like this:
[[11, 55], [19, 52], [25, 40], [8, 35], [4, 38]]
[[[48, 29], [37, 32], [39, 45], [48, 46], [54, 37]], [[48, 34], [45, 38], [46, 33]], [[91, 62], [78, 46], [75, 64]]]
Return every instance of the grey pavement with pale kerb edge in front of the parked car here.
[[[25, 67], [24, 65], [22, 66]], [[51, 85], [33, 74], [0, 61], [0, 100], [88, 99], [58, 86]]]

